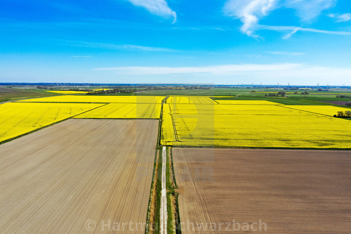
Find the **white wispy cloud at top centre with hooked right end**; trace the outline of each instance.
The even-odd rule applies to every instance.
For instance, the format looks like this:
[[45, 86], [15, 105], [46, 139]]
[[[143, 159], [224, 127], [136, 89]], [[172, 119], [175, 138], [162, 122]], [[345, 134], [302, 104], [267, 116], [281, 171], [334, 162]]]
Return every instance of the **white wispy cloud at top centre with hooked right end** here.
[[165, 0], [126, 0], [134, 6], [144, 7], [150, 13], [161, 16], [166, 19], [173, 19], [173, 23], [177, 20], [176, 12], [172, 11]]

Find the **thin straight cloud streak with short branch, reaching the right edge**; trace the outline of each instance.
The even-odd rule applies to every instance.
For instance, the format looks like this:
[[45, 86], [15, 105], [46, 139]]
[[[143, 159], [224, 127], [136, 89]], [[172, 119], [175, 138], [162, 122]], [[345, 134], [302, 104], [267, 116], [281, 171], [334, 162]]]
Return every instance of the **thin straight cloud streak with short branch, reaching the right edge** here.
[[319, 30], [319, 29], [314, 29], [314, 28], [302, 28], [302, 27], [296, 27], [296, 26], [258, 25], [258, 28], [264, 29], [264, 30], [278, 31], [278, 32], [292, 31], [292, 33], [285, 35], [283, 37], [284, 39], [289, 38], [293, 33], [296, 33], [298, 31], [312, 32], [312, 33], [324, 33], [324, 34], [335, 34], [335, 35], [351, 35], [351, 32], [345, 32], [345, 31], [328, 31], [328, 30]]

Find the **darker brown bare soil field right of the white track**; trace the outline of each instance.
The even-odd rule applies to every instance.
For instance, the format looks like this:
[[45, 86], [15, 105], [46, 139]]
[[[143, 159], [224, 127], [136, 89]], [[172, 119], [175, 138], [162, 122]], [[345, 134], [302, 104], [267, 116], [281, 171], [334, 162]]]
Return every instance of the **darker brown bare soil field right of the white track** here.
[[351, 233], [351, 151], [172, 152], [183, 234]]

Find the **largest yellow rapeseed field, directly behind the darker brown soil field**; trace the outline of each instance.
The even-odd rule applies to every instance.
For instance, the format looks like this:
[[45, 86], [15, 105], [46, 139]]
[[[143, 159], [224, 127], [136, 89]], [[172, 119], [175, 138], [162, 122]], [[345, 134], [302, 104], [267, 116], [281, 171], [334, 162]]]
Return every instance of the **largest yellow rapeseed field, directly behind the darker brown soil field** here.
[[351, 148], [351, 121], [276, 105], [164, 105], [161, 144]]

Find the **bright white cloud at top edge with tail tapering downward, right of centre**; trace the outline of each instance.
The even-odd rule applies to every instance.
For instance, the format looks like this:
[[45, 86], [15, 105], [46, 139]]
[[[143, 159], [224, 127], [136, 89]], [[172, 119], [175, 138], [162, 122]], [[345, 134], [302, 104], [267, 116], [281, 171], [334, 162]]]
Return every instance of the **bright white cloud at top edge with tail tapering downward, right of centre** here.
[[243, 22], [241, 31], [251, 36], [259, 19], [274, 8], [275, 2], [276, 0], [229, 0], [223, 11], [228, 16], [240, 19]]

